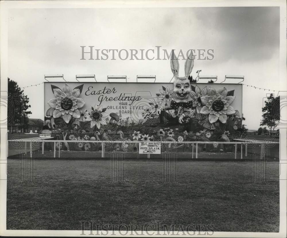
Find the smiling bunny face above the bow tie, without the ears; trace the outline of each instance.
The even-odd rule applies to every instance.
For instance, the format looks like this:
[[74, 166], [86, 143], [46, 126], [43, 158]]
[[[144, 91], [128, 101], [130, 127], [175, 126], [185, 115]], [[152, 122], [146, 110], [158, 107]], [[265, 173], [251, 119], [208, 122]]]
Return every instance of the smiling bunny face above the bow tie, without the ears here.
[[189, 92], [190, 85], [187, 78], [183, 77], [174, 80], [173, 93], [176, 102], [187, 102], [190, 99]]

